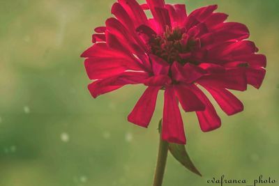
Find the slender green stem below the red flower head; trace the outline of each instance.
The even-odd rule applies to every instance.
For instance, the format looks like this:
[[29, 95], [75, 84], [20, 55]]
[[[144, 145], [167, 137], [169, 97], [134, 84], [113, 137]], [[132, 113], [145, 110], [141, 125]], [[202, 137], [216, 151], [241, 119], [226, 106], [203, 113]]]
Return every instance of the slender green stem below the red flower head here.
[[154, 176], [153, 186], [161, 186], [163, 183], [165, 165], [167, 163], [167, 152], [169, 150], [169, 144], [167, 141], [163, 141], [160, 135], [160, 144], [158, 152], [158, 160], [156, 166], [156, 172]]

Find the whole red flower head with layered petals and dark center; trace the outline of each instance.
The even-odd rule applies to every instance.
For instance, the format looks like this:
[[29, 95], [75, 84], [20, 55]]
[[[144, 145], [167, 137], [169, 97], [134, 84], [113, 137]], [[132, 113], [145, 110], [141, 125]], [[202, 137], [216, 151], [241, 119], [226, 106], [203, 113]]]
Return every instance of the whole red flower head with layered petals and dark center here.
[[[179, 111], [195, 111], [204, 132], [220, 127], [221, 121], [204, 87], [227, 115], [243, 110], [243, 104], [227, 89], [246, 91], [247, 84], [259, 88], [264, 79], [266, 57], [254, 42], [246, 40], [244, 24], [225, 22], [217, 6], [199, 8], [189, 15], [182, 4], [163, 0], [118, 0], [115, 17], [95, 29], [93, 45], [82, 57], [94, 82], [89, 91], [98, 95], [126, 84], [147, 86], [128, 116], [128, 121], [147, 127], [156, 106], [158, 91], [165, 90], [162, 137], [185, 144]], [[153, 18], [144, 10], [151, 10]]]

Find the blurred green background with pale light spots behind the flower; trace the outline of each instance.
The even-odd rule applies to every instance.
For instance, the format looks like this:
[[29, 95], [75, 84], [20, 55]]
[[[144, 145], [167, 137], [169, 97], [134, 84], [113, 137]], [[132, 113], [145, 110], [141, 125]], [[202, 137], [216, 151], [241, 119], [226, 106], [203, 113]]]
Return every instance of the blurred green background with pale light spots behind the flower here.
[[[142, 1], [141, 1], [142, 2]], [[245, 110], [223, 126], [199, 130], [183, 113], [188, 152], [204, 177], [169, 156], [164, 185], [209, 185], [209, 178], [262, 174], [279, 180], [279, 1], [168, 0], [188, 12], [217, 3], [229, 21], [242, 22], [266, 54], [261, 89], [236, 93]], [[110, 17], [113, 0], [0, 1], [0, 185], [151, 185], [158, 150], [160, 93], [148, 130], [128, 123], [144, 86], [127, 86], [91, 98], [80, 54], [93, 28]]]

